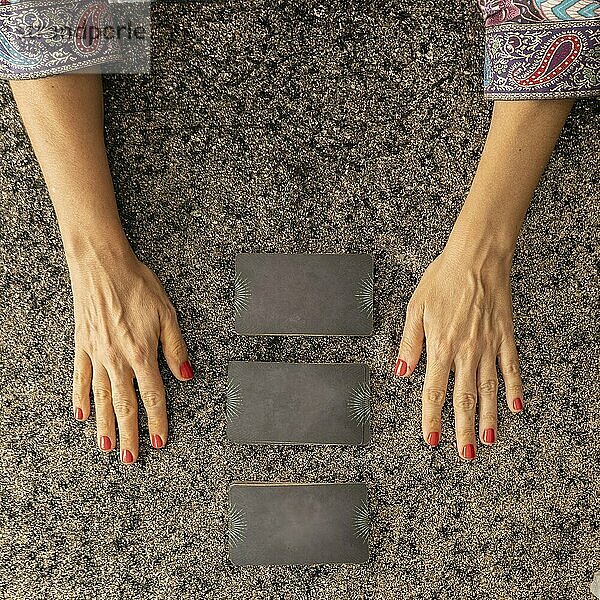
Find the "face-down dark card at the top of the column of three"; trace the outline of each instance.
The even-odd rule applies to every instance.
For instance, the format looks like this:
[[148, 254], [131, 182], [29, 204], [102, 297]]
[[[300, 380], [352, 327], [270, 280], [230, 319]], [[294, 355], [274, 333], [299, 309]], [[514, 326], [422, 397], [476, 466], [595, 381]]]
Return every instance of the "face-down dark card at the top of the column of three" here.
[[241, 335], [371, 335], [370, 254], [238, 254]]

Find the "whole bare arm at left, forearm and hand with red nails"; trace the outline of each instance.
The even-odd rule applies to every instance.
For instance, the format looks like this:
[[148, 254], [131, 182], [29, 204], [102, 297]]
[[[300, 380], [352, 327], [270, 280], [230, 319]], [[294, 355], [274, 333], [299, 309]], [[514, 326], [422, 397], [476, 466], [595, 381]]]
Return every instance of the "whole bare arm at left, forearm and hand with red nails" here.
[[152, 446], [167, 443], [159, 343], [180, 381], [193, 377], [175, 309], [156, 275], [133, 254], [121, 227], [104, 146], [102, 83], [77, 74], [12, 81], [13, 94], [41, 166], [63, 238], [75, 318], [73, 416], [91, 413], [97, 443], [139, 452], [134, 378]]

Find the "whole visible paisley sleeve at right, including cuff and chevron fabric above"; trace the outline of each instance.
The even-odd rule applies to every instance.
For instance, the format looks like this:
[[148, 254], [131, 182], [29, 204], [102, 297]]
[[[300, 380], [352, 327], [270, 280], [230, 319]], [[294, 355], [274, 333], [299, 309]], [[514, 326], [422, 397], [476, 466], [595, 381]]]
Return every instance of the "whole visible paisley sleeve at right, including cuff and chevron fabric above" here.
[[487, 98], [600, 96], [600, 0], [479, 0], [479, 6]]

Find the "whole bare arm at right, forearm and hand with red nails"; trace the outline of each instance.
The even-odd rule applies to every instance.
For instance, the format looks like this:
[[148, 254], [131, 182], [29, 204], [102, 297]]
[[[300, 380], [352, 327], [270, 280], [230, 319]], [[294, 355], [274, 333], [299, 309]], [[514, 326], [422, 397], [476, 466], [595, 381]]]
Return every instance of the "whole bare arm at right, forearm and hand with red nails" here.
[[479, 438], [493, 444], [498, 427], [496, 360], [508, 407], [523, 410], [513, 334], [510, 263], [532, 194], [573, 99], [496, 101], [477, 172], [444, 251], [425, 271], [406, 312], [394, 372], [408, 377], [426, 340], [423, 436], [436, 446], [441, 410], [454, 370], [454, 413], [461, 457]]

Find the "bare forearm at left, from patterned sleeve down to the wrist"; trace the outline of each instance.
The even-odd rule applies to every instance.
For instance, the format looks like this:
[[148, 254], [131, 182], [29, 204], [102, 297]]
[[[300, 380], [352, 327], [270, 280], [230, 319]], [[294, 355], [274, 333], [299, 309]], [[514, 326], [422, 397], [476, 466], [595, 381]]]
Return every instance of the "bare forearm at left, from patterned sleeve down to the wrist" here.
[[70, 74], [12, 81], [71, 264], [87, 255], [129, 253], [106, 157], [102, 81]]

